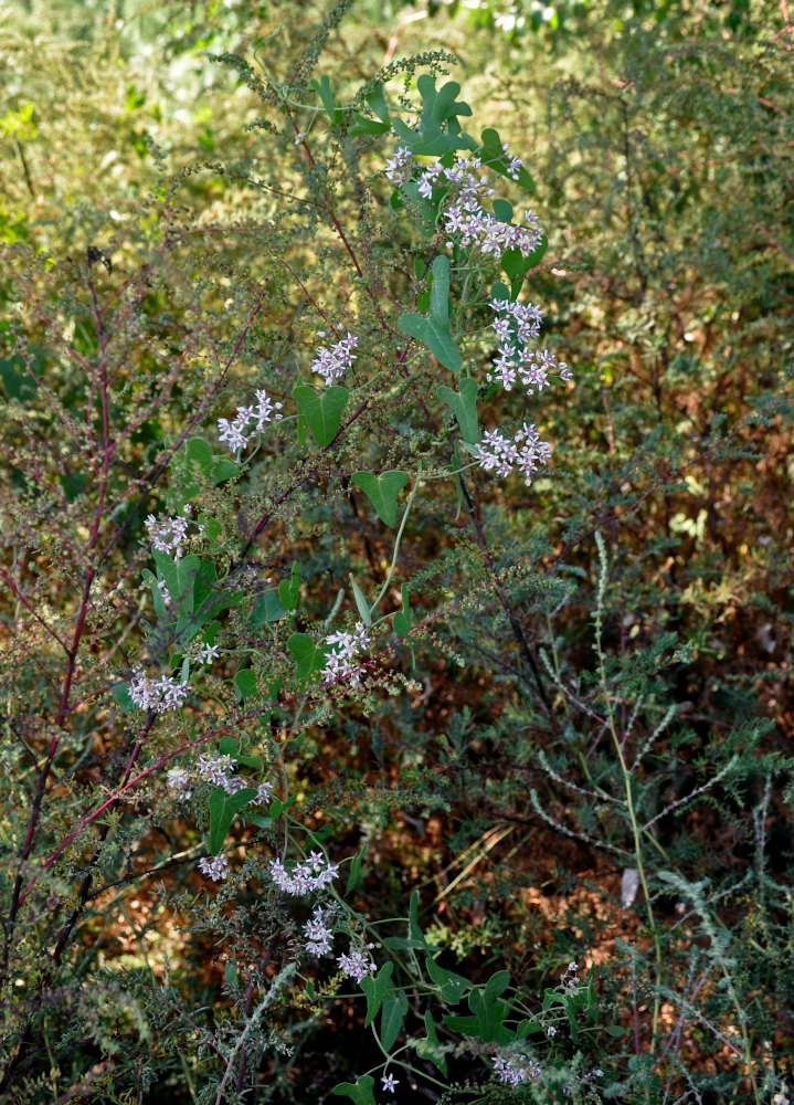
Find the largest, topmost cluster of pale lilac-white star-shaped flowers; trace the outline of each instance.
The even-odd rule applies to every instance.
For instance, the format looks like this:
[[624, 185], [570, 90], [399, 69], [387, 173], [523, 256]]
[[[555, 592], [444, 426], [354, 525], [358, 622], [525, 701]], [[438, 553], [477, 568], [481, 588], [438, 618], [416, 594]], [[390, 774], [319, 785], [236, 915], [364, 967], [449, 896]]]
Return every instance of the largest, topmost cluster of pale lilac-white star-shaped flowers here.
[[[514, 180], [521, 170], [521, 159], [508, 157], [508, 144], [502, 146], [505, 167]], [[411, 151], [405, 146], [399, 146], [394, 157], [387, 161], [384, 172], [392, 183], [401, 185], [414, 178], [420, 196], [430, 199], [436, 182], [449, 185], [449, 192], [442, 208], [444, 232], [449, 239], [447, 248], [457, 241], [463, 246], [473, 245], [486, 256], [502, 255], [505, 250], [519, 250], [521, 256], [528, 257], [540, 245], [542, 232], [538, 218], [532, 211], [525, 211], [526, 225], [511, 225], [489, 214], [483, 207], [483, 200], [495, 193], [488, 187], [487, 173], [477, 177], [483, 168], [478, 157], [457, 157], [454, 165], [446, 167], [436, 161], [423, 168], [413, 160]]]

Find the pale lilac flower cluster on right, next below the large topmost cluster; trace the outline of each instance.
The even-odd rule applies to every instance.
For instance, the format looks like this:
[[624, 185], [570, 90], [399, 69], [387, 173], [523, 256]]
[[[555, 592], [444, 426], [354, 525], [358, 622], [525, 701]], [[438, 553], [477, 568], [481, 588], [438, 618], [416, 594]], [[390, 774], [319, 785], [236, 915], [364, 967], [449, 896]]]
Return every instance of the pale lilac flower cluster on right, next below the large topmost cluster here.
[[568, 365], [548, 349], [530, 348], [530, 340], [538, 337], [543, 313], [533, 303], [511, 303], [509, 299], [493, 299], [490, 307], [496, 312], [494, 330], [499, 338], [499, 352], [488, 373], [489, 379], [499, 382], [505, 391], [511, 391], [516, 381], [527, 388], [527, 394], [542, 391], [549, 386], [549, 372], [561, 380], [572, 379]]

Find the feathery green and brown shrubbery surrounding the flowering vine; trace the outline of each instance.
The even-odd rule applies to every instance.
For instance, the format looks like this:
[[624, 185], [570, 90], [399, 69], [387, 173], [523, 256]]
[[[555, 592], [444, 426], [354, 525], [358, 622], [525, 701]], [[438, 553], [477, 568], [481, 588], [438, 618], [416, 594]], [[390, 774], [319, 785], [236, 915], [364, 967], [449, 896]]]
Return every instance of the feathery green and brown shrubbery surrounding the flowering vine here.
[[[394, 957], [391, 1099], [785, 1096], [792, 49], [785, 6], [708, 0], [7, 13], [2, 1099], [369, 1101], [385, 1013], [364, 1030], [374, 999], [300, 958], [287, 842], [340, 864], [338, 933]], [[398, 327], [432, 229], [389, 203], [393, 138], [350, 133], [427, 72], [525, 158], [549, 238], [522, 297], [567, 387], [487, 389], [490, 277], [453, 277], [480, 430], [553, 443], [529, 487], [430, 478], [472, 461]], [[274, 422], [230, 469], [216, 420], [263, 387], [294, 415], [347, 329], [339, 442]], [[398, 544], [351, 476], [421, 466]], [[191, 482], [201, 636], [146, 526]], [[392, 564], [361, 686], [320, 688], [288, 642], [352, 629], [350, 573], [372, 603]], [[184, 656], [201, 693], [136, 712], [135, 670]], [[211, 788], [167, 771], [230, 736], [277, 803], [212, 882]], [[540, 1073], [511, 1087], [521, 1019]]]

